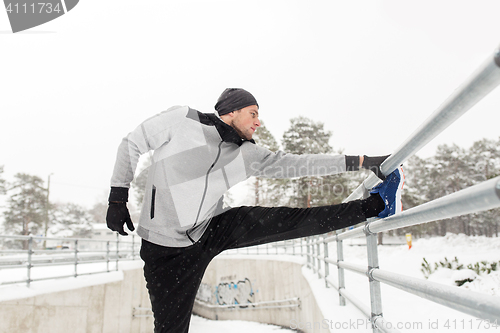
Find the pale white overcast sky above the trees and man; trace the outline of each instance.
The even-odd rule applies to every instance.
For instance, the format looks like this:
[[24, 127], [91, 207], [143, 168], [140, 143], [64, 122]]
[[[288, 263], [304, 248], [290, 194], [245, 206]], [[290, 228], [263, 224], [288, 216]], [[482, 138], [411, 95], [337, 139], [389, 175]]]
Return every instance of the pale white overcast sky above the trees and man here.
[[[304, 115], [346, 154], [389, 154], [500, 44], [500, 1], [81, 0], [12, 34], [0, 11], [0, 165], [105, 201], [120, 140], [172, 105], [254, 94], [280, 141]], [[421, 150], [499, 136], [500, 88]]]

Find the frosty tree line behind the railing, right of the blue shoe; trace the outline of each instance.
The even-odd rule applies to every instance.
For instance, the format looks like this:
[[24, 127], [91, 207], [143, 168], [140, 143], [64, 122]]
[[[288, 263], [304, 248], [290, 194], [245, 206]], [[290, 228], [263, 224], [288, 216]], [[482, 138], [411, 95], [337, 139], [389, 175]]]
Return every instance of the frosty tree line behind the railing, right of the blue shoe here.
[[[403, 207], [408, 209], [500, 175], [500, 140], [476, 141], [469, 149], [441, 145], [430, 158], [410, 158], [404, 170]], [[492, 209], [421, 224], [409, 230], [418, 236], [445, 235], [447, 232], [498, 236], [499, 218], [500, 209]], [[404, 234], [406, 231], [397, 232]]]

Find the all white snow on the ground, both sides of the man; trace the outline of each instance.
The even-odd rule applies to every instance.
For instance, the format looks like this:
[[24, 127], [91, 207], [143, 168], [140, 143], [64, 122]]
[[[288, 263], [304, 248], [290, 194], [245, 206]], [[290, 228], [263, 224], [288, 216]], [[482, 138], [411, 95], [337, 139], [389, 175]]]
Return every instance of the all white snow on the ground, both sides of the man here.
[[[384, 241], [386, 243], [405, 243], [403, 238], [395, 240], [386, 237]], [[347, 262], [366, 265], [366, 246], [362, 243], [363, 238], [344, 241], [344, 258]], [[445, 257], [449, 261], [457, 257], [460, 263], [467, 266], [467, 264], [474, 264], [481, 261], [498, 262], [500, 260], [499, 249], [500, 238], [467, 237], [465, 235], [449, 234], [445, 237], [414, 240], [411, 249], [408, 249], [406, 244], [379, 246], [379, 261], [380, 268], [383, 270], [424, 280], [424, 275], [421, 272], [421, 264], [424, 257], [431, 265], [433, 265], [434, 262], [443, 261]], [[242, 253], [245, 252], [245, 250], [242, 251]], [[297, 253], [299, 252], [297, 251]], [[329, 253], [330, 257], [335, 260], [335, 243], [330, 244]], [[291, 258], [287, 255], [275, 254], [260, 255], [257, 257], [268, 260], [296, 261], [298, 259], [296, 257]], [[142, 262], [124, 262], [120, 263], [119, 267], [120, 269], [125, 269], [126, 266], [142, 267]], [[71, 267], [65, 268], [56, 266], [44, 268], [50, 269], [51, 273], [54, 275], [58, 272], [66, 274], [66, 270], [71, 270]], [[87, 271], [92, 268], [97, 270], [105, 269], [102, 264], [82, 265], [79, 269]], [[23, 274], [26, 274], [25, 272], [25, 270], [22, 270], [17, 274], [23, 276]], [[333, 265], [330, 265], [330, 272], [331, 279], [336, 281], [337, 270]], [[457, 272], [458, 271], [451, 272], [439, 269], [430, 276], [429, 280], [444, 285], [453, 285], [453, 278], [455, 278], [457, 274], [466, 274]], [[0, 270], [0, 280], [5, 281], [5, 274], [9, 274], [9, 276], [12, 277], [11, 274], [13, 273], [13, 270]], [[45, 275], [46, 273], [48, 272], [40, 272], [40, 275]], [[363, 314], [350, 304], [350, 302], [348, 302], [345, 307], [339, 306], [336, 290], [333, 288], [326, 289], [325, 282], [318, 279], [317, 274], [313, 274], [311, 270], [304, 268], [303, 274], [309, 281], [323, 316], [327, 320], [326, 322], [329, 327], [331, 327], [332, 332], [371, 332], [369, 324], [366, 322]], [[467, 274], [471, 273], [467, 272]], [[81, 276], [76, 279], [67, 278], [35, 282], [32, 283], [31, 288], [27, 288], [25, 285], [5, 285], [0, 286], [0, 300], [29, 297], [41, 292], [61, 290], [61, 288], [78, 288], [86, 284], [102, 282], [106, 277], [111, 280], [119, 280], [122, 278], [120, 271], [118, 271]], [[398, 328], [402, 332], [500, 332], [500, 328], [492, 327], [487, 322], [475, 317], [449, 309], [384, 284], [381, 285], [381, 288], [384, 317], [387, 321], [391, 322], [395, 328]], [[498, 297], [500, 295], [500, 271], [492, 272], [489, 275], [481, 273], [473, 282], [466, 283], [460, 288]], [[366, 306], [370, 305], [369, 285], [366, 276], [346, 271], [346, 289]], [[253, 322], [210, 321], [193, 316], [190, 332], [245, 333], [250, 331], [267, 333], [275, 331], [286, 332], [287, 330], [282, 330], [282, 328], [278, 326]]]

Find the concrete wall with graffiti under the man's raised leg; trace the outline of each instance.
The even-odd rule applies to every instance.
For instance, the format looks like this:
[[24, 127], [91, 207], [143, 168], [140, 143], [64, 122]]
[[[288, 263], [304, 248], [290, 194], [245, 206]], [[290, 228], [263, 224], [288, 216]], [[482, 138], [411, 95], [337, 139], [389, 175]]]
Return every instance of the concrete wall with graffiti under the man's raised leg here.
[[[321, 323], [323, 315], [309, 283], [302, 275], [302, 262], [266, 260], [264, 256], [220, 256], [207, 268], [198, 292], [194, 313], [217, 320], [248, 320], [275, 324], [287, 328], [302, 323], [304, 332], [330, 332]], [[252, 303], [300, 298], [300, 307], [258, 309]], [[210, 304], [249, 303], [249, 307], [210, 308]], [[285, 304], [285, 303], [284, 303]], [[307, 325], [305, 323], [311, 323]], [[295, 324], [295, 327], [294, 327]], [[310, 326], [310, 327], [308, 327]]]

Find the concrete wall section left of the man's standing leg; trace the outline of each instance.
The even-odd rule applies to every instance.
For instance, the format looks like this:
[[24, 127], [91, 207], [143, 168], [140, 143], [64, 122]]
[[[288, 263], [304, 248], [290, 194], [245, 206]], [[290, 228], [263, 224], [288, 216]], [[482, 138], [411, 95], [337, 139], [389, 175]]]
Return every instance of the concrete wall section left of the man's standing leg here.
[[152, 317], [133, 318], [140, 306], [151, 303], [142, 268], [135, 268], [124, 270], [120, 281], [2, 301], [0, 332], [153, 332]]

